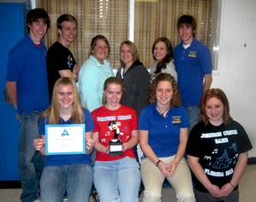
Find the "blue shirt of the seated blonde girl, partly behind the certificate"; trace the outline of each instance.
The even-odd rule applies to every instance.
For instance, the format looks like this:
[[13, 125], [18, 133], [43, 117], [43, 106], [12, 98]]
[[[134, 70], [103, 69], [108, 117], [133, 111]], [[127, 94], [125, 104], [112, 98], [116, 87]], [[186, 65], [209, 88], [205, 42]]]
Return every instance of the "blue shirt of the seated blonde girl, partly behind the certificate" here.
[[[92, 115], [88, 110], [84, 110], [86, 132], [91, 132], [94, 129]], [[48, 122], [48, 117], [41, 118], [39, 122], [39, 134], [45, 135], [45, 124]], [[61, 120], [60, 124], [72, 124], [72, 119], [67, 122]], [[51, 165], [68, 165], [68, 164], [89, 164], [91, 156], [89, 154], [70, 154], [70, 155], [51, 155], [46, 157], [45, 166]]]

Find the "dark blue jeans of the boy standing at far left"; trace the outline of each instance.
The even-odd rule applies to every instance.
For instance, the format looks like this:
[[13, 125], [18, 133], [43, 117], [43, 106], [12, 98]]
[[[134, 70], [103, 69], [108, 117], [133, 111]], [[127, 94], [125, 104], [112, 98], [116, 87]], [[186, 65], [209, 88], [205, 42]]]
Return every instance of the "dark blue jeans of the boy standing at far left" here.
[[44, 168], [45, 157], [35, 151], [33, 140], [39, 135], [39, 116], [41, 112], [32, 111], [21, 116], [21, 136], [19, 146], [19, 167], [21, 175], [21, 201], [31, 202], [39, 199], [39, 178]]

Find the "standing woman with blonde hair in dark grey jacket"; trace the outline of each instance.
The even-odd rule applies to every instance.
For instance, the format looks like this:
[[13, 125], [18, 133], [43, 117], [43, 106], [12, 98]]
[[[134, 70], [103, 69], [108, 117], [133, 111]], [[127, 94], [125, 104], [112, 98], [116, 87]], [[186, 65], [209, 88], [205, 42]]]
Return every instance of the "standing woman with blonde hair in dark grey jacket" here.
[[123, 41], [120, 45], [120, 62], [116, 77], [122, 79], [123, 93], [121, 103], [136, 110], [139, 116], [148, 104], [150, 90], [149, 73], [139, 60], [136, 45], [131, 41]]

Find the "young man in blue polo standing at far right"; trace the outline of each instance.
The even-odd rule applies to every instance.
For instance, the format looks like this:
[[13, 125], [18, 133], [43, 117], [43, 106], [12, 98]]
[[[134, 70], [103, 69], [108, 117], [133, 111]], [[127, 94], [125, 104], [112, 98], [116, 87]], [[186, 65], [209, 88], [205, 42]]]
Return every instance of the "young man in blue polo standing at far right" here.
[[199, 122], [199, 103], [203, 93], [211, 86], [211, 52], [195, 39], [196, 21], [191, 15], [182, 15], [177, 21], [182, 42], [174, 50], [178, 85], [182, 105], [186, 108], [189, 130]]

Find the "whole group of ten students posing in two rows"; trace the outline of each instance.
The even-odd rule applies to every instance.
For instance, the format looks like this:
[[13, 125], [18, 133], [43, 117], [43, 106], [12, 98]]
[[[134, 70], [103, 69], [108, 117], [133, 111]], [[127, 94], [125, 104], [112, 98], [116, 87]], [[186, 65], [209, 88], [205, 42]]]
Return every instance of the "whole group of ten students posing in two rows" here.
[[[141, 180], [143, 201], [161, 201], [164, 179], [178, 201], [238, 201], [237, 185], [252, 145], [231, 119], [224, 92], [210, 89], [210, 50], [194, 38], [191, 15], [177, 22], [182, 42], [174, 53], [169, 39], [155, 40], [150, 73], [134, 43], [123, 41], [116, 77], [103, 35], [92, 39], [78, 71], [68, 50], [76, 36], [72, 15], [58, 18], [58, 41], [47, 56], [42, 39], [50, 27], [48, 14], [30, 10], [27, 26], [29, 35], [9, 53], [7, 74], [7, 90], [21, 120], [22, 201], [39, 201], [39, 187], [43, 202], [61, 201], [65, 192], [68, 201], [88, 201], [92, 183], [102, 202], [138, 201]], [[47, 156], [44, 169], [37, 168], [45, 155], [45, 124], [76, 123], [86, 126], [86, 153]], [[122, 143], [122, 152], [114, 156], [113, 139]], [[134, 151], [138, 142], [144, 154], [140, 164]], [[38, 169], [43, 169], [40, 181]]]

